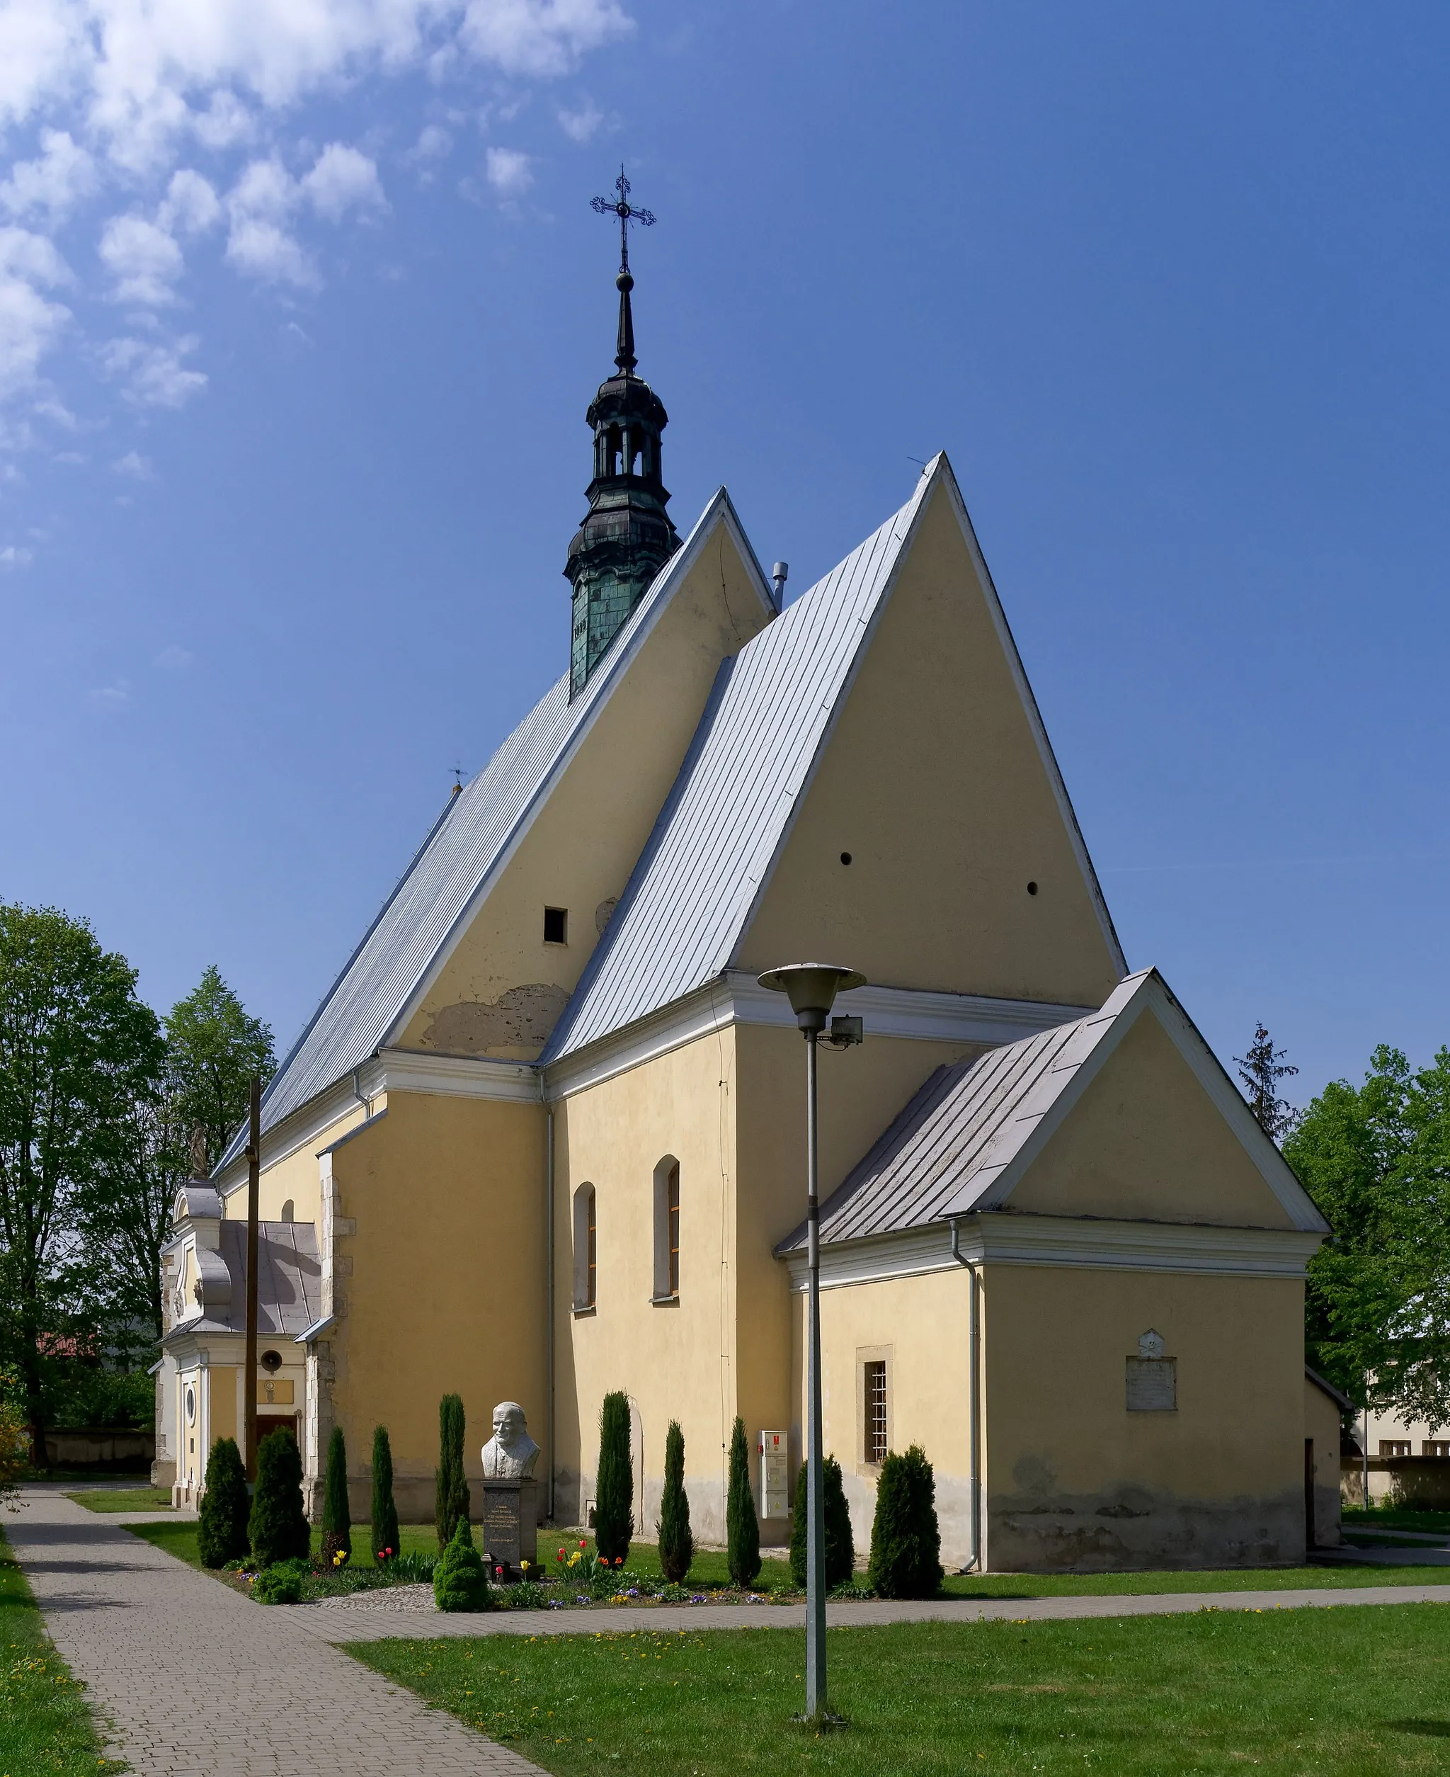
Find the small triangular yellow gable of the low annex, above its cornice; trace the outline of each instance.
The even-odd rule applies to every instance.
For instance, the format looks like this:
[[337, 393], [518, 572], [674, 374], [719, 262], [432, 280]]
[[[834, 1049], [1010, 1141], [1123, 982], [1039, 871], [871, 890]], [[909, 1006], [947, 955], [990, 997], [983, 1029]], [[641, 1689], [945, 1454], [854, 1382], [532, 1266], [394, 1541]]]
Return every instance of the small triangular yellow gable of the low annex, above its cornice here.
[[1151, 1008], [1089, 1082], [1009, 1207], [1038, 1215], [1294, 1226]]

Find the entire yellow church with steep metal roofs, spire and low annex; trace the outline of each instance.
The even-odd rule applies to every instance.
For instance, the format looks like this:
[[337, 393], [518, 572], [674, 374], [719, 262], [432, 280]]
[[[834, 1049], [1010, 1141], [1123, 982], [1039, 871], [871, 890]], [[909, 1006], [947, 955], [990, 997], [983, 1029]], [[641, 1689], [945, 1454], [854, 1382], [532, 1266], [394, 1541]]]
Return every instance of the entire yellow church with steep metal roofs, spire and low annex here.
[[252, 1390], [313, 1509], [341, 1425], [366, 1516], [384, 1423], [426, 1521], [458, 1391], [471, 1475], [515, 1400], [547, 1514], [581, 1525], [624, 1390], [640, 1537], [679, 1420], [697, 1537], [723, 1542], [739, 1414], [762, 1542], [787, 1541], [805, 1045], [757, 977], [825, 960], [867, 981], [835, 1008], [864, 1043], [819, 1061], [825, 1443], [858, 1553], [913, 1443], [947, 1567], [1338, 1541], [1338, 1406], [1303, 1338], [1326, 1223], [1123, 958], [945, 455], [787, 604], [725, 489], [677, 533], [627, 254], [617, 286], [570, 657], [267, 1089], [256, 1375], [245, 1132], [179, 1192], [158, 1480], [195, 1500]]

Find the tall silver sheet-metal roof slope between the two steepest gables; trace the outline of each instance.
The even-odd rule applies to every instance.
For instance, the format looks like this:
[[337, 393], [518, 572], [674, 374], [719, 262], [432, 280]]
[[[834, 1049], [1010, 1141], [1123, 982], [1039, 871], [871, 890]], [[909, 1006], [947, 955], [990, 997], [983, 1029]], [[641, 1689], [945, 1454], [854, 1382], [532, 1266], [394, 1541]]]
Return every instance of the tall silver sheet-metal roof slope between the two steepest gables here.
[[924, 473], [899, 512], [721, 666], [546, 1063], [668, 1006], [730, 963], [901, 544], [935, 485]]

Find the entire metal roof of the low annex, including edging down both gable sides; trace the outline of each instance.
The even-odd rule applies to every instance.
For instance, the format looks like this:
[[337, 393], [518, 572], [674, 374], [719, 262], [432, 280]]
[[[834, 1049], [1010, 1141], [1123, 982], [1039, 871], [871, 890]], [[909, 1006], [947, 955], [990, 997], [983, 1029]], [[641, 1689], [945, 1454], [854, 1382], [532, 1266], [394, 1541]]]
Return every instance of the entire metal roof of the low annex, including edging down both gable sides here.
[[[1295, 1228], [1327, 1224], [1255, 1123], [1212, 1050], [1153, 968], [1128, 976], [1102, 1011], [976, 1061], [938, 1068], [871, 1153], [821, 1205], [821, 1240], [864, 1240], [1000, 1208], [1018, 1176], [1146, 1006], [1210, 1089]], [[805, 1246], [805, 1223], [777, 1246]]]

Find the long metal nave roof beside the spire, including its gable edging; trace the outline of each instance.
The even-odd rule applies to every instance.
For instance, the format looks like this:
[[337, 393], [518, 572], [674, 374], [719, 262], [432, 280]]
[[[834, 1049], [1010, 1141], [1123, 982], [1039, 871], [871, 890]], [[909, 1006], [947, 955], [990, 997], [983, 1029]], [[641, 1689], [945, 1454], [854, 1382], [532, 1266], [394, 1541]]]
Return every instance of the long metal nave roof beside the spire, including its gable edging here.
[[[281, 1123], [384, 1045], [435, 958], [512, 855], [514, 842], [572, 757], [590, 718], [609, 697], [718, 522], [730, 526], [743, 560], [769, 601], [766, 578], [725, 489], [720, 489], [684, 546], [659, 570], [588, 686], [570, 704], [565, 673], [444, 809], [267, 1088], [263, 1128]], [[245, 1130], [238, 1130], [220, 1166], [231, 1162], [243, 1144]]]

